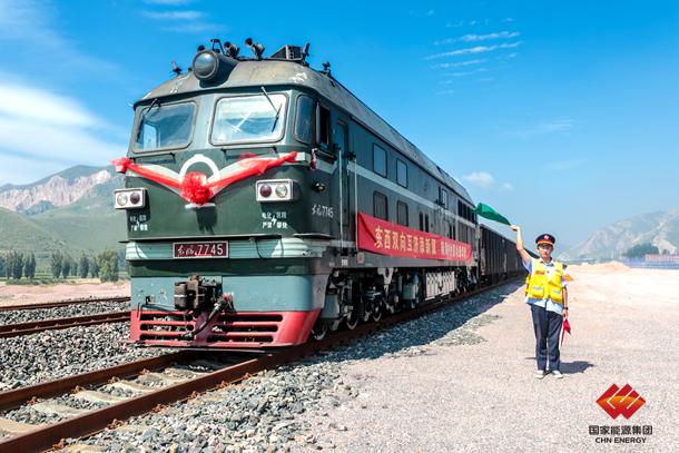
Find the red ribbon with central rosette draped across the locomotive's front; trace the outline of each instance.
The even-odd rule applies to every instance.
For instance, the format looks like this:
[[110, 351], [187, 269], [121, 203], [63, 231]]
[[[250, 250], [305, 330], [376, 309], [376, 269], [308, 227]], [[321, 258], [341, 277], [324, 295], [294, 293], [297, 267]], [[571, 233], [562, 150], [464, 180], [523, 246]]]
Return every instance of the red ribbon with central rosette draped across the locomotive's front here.
[[179, 196], [181, 198], [195, 205], [201, 206], [208, 203], [217, 193], [227, 186], [242, 179], [249, 178], [250, 176], [263, 175], [269, 168], [278, 167], [285, 163], [293, 163], [295, 161], [296, 157], [297, 151], [291, 151], [281, 157], [247, 157], [232, 164], [232, 166], [240, 167], [238, 170], [210, 183], [208, 183], [206, 175], [198, 171], [189, 171], [184, 175], [184, 178], [179, 178], [178, 176], [177, 178], [174, 178], [168, 175], [163, 175], [142, 165], [132, 163], [129, 157], [114, 159], [111, 163], [118, 173], [125, 175], [128, 170], [130, 170], [142, 178], [150, 179], [171, 189], [179, 190]]

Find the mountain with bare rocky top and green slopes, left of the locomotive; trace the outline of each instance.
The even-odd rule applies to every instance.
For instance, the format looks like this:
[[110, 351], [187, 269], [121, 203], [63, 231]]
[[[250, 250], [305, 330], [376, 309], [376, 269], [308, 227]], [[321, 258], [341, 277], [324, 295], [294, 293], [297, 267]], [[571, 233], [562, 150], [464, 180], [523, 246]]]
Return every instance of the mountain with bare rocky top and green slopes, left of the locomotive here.
[[112, 193], [124, 178], [111, 167], [76, 166], [36, 183], [0, 187], [0, 250], [91, 255], [120, 248], [125, 214]]

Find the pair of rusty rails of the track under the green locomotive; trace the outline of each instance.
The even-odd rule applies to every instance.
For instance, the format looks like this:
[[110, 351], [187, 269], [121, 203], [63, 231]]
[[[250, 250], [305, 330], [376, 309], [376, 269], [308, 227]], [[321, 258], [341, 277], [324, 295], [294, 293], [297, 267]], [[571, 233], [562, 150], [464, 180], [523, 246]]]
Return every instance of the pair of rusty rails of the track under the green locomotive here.
[[[188, 400], [196, 394], [223, 385], [244, 381], [253, 374], [299, 360], [321, 349], [326, 349], [351, 339], [365, 336], [377, 329], [423, 316], [446, 304], [481, 294], [498, 286], [511, 283], [512, 280], [513, 279], [508, 279], [470, 293], [435, 301], [411, 311], [400, 312], [377, 323], [363, 324], [353, 331], [337, 332], [319, 342], [309, 342], [287, 349], [265, 353], [256, 357], [246, 357], [237, 363], [228, 364], [211, 372], [195, 373], [194, 377], [175, 380], [175, 383], [170, 383], [160, 388], [141, 391], [131, 397], [111, 402], [101, 408], [85, 412], [57, 423], [43, 426], [18, 426], [16, 423], [9, 423], [9, 425], [13, 425], [14, 433], [10, 439], [0, 442], [0, 453], [13, 453], [17, 451], [29, 452], [59, 447], [63, 445], [65, 439], [82, 437], [101, 431], [107, 426], [116, 426], [120, 421], [125, 421], [131, 416], [154, 411], [170, 403]], [[128, 377], [140, 373], [142, 370], [160, 368], [176, 362], [198, 360], [199, 354], [204, 353], [198, 351], [183, 351], [167, 356], [148, 358], [94, 373], [2, 392], [0, 393], [0, 410], [17, 407], [27, 402], [35, 401], [35, 398], [55, 396], [66, 393], [69, 390], [77, 395], [80, 392], [86, 392], [82, 388], [83, 385], [99, 384], [111, 378]], [[170, 382], [171, 381], [173, 380], [170, 380]], [[8, 422], [1, 418], [0, 430], [3, 426], [3, 422], [6, 426], [4, 431], [8, 432]]]

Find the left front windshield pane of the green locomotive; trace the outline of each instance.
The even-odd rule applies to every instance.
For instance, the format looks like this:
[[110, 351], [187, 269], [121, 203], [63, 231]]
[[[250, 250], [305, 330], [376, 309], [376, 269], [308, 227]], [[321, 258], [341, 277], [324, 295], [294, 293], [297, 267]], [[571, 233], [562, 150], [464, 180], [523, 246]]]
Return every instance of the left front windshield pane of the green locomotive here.
[[158, 105], [154, 101], [144, 107], [135, 148], [151, 151], [185, 147], [191, 138], [195, 110], [194, 102]]

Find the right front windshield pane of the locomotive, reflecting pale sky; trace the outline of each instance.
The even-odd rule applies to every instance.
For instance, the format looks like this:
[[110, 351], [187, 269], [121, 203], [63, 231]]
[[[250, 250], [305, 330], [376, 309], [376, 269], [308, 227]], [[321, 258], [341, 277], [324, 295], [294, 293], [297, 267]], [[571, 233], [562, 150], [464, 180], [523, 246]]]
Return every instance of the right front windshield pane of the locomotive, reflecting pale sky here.
[[285, 104], [284, 95], [220, 99], [213, 125], [213, 144], [272, 141], [281, 138]]

